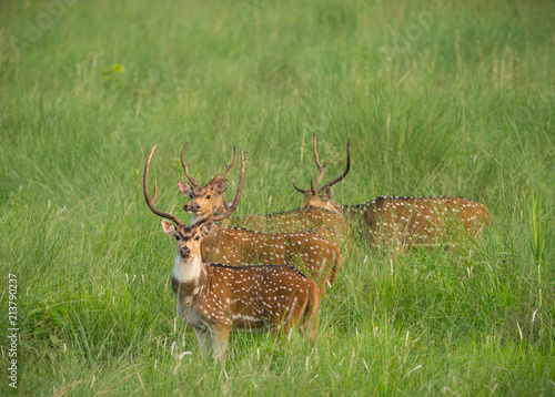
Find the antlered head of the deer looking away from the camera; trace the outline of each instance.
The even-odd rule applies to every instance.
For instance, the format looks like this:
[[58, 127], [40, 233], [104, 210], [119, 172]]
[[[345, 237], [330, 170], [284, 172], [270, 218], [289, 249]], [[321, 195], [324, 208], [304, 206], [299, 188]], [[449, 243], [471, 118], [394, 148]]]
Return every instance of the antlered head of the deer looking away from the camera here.
[[314, 180], [311, 174], [311, 189], [300, 189], [295, 184], [295, 180], [291, 179], [293, 182], [293, 186], [304, 194], [304, 200], [303, 203], [301, 204], [302, 208], [309, 208], [309, 207], [317, 207], [317, 208], [325, 208], [330, 211], [335, 211], [333, 206], [333, 190], [332, 185], [336, 184], [341, 180], [345, 177], [345, 175], [349, 173], [349, 170], [351, 169], [351, 139], [347, 140], [347, 163], [345, 171], [337, 176], [335, 180], [332, 182], [325, 184], [322, 187], [319, 187], [320, 183], [322, 182], [322, 177], [324, 176], [324, 171], [325, 171], [325, 165], [327, 164], [327, 160], [324, 161], [324, 165], [320, 163], [320, 160], [317, 157], [317, 149], [316, 149], [316, 135], [314, 134], [314, 161], [316, 162], [316, 166], [320, 171], [320, 174], [316, 179], [316, 182], [314, 183]]

